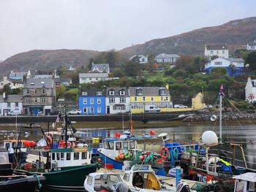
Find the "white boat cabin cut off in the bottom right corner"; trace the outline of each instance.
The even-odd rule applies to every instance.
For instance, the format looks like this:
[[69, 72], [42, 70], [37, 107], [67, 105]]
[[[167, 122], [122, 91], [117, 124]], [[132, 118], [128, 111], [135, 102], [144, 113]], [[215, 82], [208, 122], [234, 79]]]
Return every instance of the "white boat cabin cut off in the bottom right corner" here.
[[236, 180], [234, 192], [253, 192], [256, 189], [256, 173], [246, 172], [233, 177]]

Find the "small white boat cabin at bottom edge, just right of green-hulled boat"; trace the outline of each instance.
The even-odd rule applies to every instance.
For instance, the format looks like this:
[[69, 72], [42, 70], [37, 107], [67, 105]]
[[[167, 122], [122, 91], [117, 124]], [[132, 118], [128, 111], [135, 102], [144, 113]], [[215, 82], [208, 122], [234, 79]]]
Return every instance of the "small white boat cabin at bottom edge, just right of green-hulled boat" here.
[[95, 172], [89, 174], [84, 182], [86, 191], [115, 191], [116, 183], [123, 182], [120, 174]]

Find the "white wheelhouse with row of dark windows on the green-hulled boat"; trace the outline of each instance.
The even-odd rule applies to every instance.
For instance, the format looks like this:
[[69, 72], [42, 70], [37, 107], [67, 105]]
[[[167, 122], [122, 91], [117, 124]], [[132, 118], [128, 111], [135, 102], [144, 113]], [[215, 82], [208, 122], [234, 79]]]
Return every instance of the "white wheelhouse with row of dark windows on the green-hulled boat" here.
[[50, 149], [50, 169], [83, 164], [91, 164], [91, 150], [87, 147]]

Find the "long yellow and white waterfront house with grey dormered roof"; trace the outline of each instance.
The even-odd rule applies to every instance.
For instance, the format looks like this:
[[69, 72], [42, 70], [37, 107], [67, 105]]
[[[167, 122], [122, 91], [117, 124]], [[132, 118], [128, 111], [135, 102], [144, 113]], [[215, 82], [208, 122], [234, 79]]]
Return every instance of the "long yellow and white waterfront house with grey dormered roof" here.
[[173, 107], [170, 92], [166, 87], [129, 87], [130, 107], [132, 113], [146, 112], [148, 107], [155, 106], [161, 112]]

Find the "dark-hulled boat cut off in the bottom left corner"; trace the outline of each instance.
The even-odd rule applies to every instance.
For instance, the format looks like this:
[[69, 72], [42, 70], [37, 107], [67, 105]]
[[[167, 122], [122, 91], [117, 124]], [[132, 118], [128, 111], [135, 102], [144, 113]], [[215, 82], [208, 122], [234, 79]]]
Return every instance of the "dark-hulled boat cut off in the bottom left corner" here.
[[13, 174], [12, 164], [9, 163], [8, 152], [0, 149], [0, 191], [35, 191], [42, 188], [45, 177], [42, 175]]

